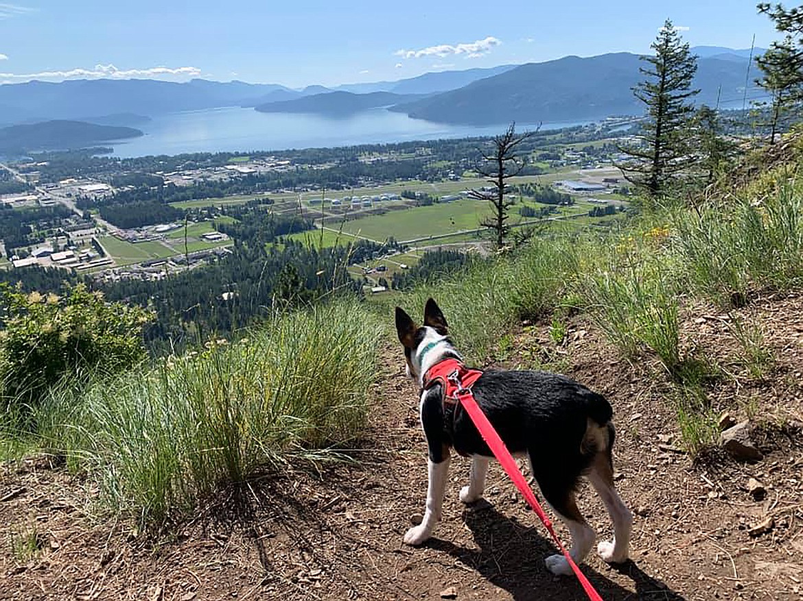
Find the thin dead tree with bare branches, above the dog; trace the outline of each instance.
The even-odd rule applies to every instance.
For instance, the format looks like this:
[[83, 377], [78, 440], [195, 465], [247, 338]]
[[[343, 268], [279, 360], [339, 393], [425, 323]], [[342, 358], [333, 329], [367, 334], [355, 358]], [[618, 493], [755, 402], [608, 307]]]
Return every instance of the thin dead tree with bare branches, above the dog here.
[[475, 167], [477, 174], [491, 184], [491, 189], [472, 189], [468, 196], [475, 200], [487, 200], [493, 205], [493, 215], [482, 220], [480, 225], [494, 230], [496, 248], [499, 249], [504, 248], [504, 240], [510, 230], [507, 226], [507, 210], [513, 205], [513, 201], [505, 196], [507, 179], [519, 175], [524, 169], [526, 162], [517, 154], [517, 147], [534, 133], [525, 131], [517, 134], [516, 123], [511, 123], [507, 131], [494, 137], [493, 151], [483, 151], [483, 163]]

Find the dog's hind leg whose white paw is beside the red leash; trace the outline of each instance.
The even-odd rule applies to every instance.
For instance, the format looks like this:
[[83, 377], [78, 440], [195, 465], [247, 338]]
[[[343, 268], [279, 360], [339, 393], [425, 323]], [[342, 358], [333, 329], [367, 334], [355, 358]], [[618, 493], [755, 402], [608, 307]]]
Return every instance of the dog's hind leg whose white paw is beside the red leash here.
[[[530, 465], [534, 467], [532, 458]], [[574, 563], [579, 565], [585, 556], [589, 555], [597, 535], [594, 534], [593, 528], [589, 526], [577, 508], [577, 500], [574, 496], [574, 486], [577, 482], [566, 478], [548, 478], [536, 470], [533, 470], [533, 475], [536, 477], [544, 498], [552, 506], [552, 510], [569, 528], [569, 533], [572, 534], [572, 547], [569, 549], [569, 555]], [[544, 559], [544, 563], [552, 574], [571, 575], [573, 573], [572, 567], [563, 555], [550, 555]]]

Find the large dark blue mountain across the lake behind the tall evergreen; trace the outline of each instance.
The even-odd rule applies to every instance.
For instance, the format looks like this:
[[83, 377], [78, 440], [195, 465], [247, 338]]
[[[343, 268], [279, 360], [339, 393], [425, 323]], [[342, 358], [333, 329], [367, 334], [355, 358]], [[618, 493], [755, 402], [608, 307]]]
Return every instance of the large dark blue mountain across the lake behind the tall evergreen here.
[[[642, 64], [636, 54], [625, 52], [530, 63], [392, 110], [415, 119], [475, 125], [638, 115], [642, 106], [631, 88], [643, 79], [638, 71]], [[701, 92], [696, 102], [715, 105], [721, 88], [721, 105], [740, 106], [747, 65], [746, 58], [700, 58], [695, 87]]]

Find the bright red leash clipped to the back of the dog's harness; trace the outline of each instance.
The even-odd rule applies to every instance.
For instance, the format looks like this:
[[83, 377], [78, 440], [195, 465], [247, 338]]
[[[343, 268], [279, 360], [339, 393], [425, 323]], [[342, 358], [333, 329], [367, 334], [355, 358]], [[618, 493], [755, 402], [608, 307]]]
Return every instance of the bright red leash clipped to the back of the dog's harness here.
[[572, 567], [577, 579], [580, 580], [585, 594], [589, 595], [589, 599], [592, 601], [602, 601], [599, 593], [597, 593], [594, 587], [591, 586], [591, 583], [589, 583], [589, 579], [580, 571], [580, 568], [577, 567], [577, 563], [574, 563], [572, 557], [566, 552], [563, 545], [560, 544], [560, 539], [557, 538], [557, 534], [555, 534], [555, 530], [552, 528], [552, 522], [549, 521], [547, 514], [544, 513], [544, 510], [538, 503], [538, 499], [536, 499], [536, 495], [532, 493], [532, 489], [528, 486], [524, 475], [521, 474], [519, 467], [516, 466], [516, 460], [513, 459], [510, 451], [504, 446], [504, 442], [499, 438], [499, 434], [497, 434], [494, 426], [491, 426], [491, 422], [488, 422], [488, 418], [485, 417], [483, 410], [477, 405], [477, 401], [475, 401], [471, 389], [463, 388], [460, 382], [459, 370], [455, 369], [454, 372], [450, 373], [449, 381], [457, 385], [457, 392], [455, 394], [459, 402], [463, 404], [463, 409], [466, 409], [469, 417], [471, 417], [471, 421], [474, 422], [477, 430], [479, 430], [479, 434], [482, 435], [487, 446], [491, 447], [494, 457], [504, 468], [505, 472], [507, 472], [513, 484], [516, 485], [516, 488], [520, 490], [521, 494], [524, 494], [524, 498], [527, 499], [532, 510], [536, 512], [541, 522], [544, 522], [544, 526], [549, 530], [549, 534], [552, 534], [552, 540], [555, 541], [557, 548], [560, 549], [560, 552], [563, 553], [563, 556], [569, 561], [569, 565]]

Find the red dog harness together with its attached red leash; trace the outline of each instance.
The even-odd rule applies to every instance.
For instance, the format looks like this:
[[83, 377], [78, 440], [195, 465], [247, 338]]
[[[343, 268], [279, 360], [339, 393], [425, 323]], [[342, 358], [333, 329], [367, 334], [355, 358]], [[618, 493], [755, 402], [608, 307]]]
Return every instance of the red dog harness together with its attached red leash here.
[[541, 522], [546, 526], [549, 534], [552, 534], [552, 540], [555, 541], [557, 548], [560, 549], [560, 552], [563, 553], [564, 557], [569, 562], [569, 566], [572, 567], [572, 571], [580, 581], [585, 594], [588, 595], [591, 601], [602, 601], [599, 593], [597, 593], [591, 583], [589, 583], [589, 579], [580, 571], [580, 568], [577, 567], [577, 563], [574, 563], [572, 556], [569, 555], [563, 544], [560, 543], [560, 538], [557, 538], [557, 534], [555, 534], [555, 530], [552, 528], [552, 522], [549, 521], [547, 514], [545, 514], [544, 510], [541, 508], [538, 499], [536, 499], [536, 495], [532, 493], [532, 489], [524, 479], [524, 475], [519, 470], [519, 466], [516, 465], [516, 460], [513, 459], [507, 447], [504, 445], [504, 442], [499, 438], [499, 434], [497, 434], [491, 422], [488, 421], [485, 413], [483, 413], [483, 409], [480, 409], [479, 405], [477, 405], [474, 394], [471, 393], [471, 386], [474, 385], [475, 381], [477, 381], [481, 375], [483, 375], [483, 373], [479, 369], [468, 369], [463, 365], [463, 361], [449, 358], [430, 367], [424, 374], [423, 384], [424, 389], [429, 389], [435, 383], [440, 382], [444, 387], [443, 404], [453, 405], [455, 411], [459, 409], [459, 407], [463, 407], [466, 413], [468, 413], [469, 417], [471, 417], [471, 422], [474, 422], [475, 427], [479, 430], [479, 434], [482, 435], [483, 440], [491, 449], [494, 457], [499, 464], [501, 464], [505, 472], [507, 472], [507, 476], [513, 481], [513, 484], [516, 485], [520, 493], [524, 495], [524, 498], [532, 507], [532, 510], [536, 512]]

